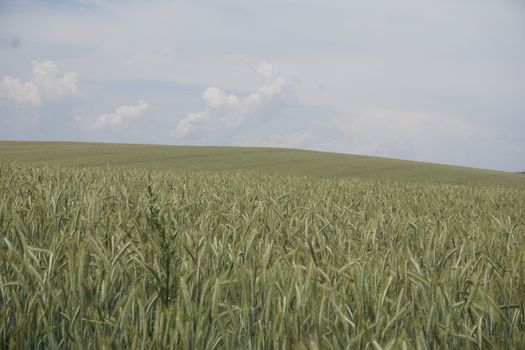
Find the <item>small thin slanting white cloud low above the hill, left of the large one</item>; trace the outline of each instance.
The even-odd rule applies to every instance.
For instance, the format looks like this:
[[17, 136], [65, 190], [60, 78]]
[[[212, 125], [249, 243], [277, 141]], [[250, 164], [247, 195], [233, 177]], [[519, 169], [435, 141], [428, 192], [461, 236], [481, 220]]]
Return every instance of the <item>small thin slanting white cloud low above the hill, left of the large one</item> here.
[[148, 108], [149, 104], [147, 102], [139, 101], [136, 105], [120, 106], [112, 113], [105, 113], [93, 119], [84, 119], [76, 116], [75, 121], [85, 130], [115, 128], [128, 119], [141, 117]]

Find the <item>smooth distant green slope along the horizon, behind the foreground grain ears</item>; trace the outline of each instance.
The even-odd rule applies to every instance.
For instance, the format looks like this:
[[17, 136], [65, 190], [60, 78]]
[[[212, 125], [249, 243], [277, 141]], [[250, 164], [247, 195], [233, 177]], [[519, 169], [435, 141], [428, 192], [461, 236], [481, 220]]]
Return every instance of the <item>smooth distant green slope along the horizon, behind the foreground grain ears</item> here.
[[525, 189], [525, 176], [492, 170], [283, 148], [82, 142], [0, 142], [0, 160], [62, 166], [256, 171], [313, 177], [487, 184]]

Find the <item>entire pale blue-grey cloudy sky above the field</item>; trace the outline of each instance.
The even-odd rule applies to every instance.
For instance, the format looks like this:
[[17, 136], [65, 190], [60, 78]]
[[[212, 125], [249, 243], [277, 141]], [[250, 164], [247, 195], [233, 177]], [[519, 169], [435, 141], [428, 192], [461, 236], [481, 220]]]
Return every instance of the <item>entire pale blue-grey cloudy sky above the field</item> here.
[[521, 0], [0, 0], [0, 139], [525, 171]]

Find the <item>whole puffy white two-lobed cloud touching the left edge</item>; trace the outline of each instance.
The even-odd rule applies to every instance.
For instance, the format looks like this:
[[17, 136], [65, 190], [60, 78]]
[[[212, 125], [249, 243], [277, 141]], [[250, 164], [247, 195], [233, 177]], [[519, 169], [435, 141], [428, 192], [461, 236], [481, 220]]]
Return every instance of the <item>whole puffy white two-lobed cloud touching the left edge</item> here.
[[6, 76], [0, 82], [0, 94], [17, 105], [38, 105], [42, 94], [51, 98], [74, 95], [78, 92], [78, 76], [69, 72], [60, 74], [53, 61], [33, 61], [33, 75], [28, 82]]

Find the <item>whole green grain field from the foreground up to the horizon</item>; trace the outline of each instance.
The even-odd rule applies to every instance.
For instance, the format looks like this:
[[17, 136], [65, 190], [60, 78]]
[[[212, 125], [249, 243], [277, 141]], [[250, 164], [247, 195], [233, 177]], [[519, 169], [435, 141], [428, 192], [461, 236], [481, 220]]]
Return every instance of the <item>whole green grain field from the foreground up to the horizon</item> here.
[[0, 348], [520, 349], [525, 175], [0, 142]]

